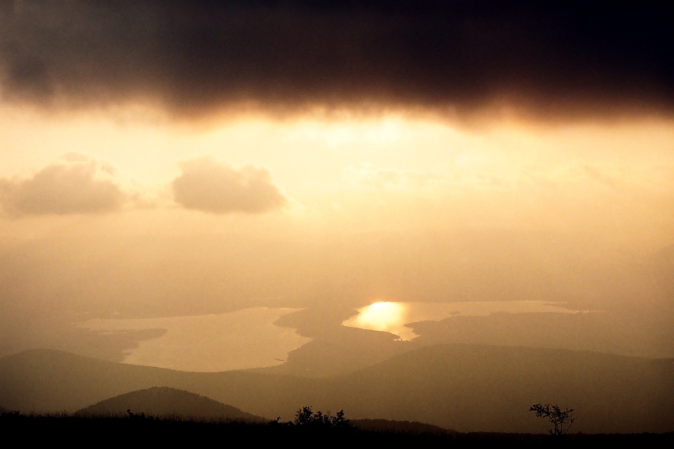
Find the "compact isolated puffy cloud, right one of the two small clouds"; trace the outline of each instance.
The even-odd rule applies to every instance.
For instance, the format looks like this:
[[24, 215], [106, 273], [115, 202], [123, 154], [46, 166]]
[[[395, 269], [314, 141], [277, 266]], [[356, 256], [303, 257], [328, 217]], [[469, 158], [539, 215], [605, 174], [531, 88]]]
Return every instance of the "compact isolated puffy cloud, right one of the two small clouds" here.
[[183, 174], [173, 180], [173, 193], [175, 201], [187, 209], [264, 213], [286, 204], [264, 168], [237, 170], [211, 156], [188, 160], [181, 168]]

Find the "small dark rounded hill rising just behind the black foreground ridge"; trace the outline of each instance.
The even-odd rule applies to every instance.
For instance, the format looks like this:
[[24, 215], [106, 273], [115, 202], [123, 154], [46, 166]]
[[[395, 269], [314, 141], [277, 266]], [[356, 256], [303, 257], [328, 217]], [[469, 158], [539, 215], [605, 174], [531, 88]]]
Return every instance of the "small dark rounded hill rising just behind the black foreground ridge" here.
[[75, 412], [82, 416], [135, 415], [183, 419], [222, 419], [267, 422], [268, 419], [245, 413], [236, 407], [213, 401], [193, 392], [155, 386], [120, 394]]

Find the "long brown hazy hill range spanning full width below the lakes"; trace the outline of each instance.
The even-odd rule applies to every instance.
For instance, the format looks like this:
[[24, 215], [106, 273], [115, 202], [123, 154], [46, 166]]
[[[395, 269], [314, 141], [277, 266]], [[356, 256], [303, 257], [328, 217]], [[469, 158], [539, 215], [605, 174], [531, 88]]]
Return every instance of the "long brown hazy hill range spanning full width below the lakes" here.
[[674, 359], [590, 351], [437, 345], [357, 372], [301, 378], [247, 371], [190, 373], [116, 364], [59, 351], [0, 359], [0, 403], [20, 411], [75, 411], [152, 386], [208, 396], [248, 413], [291, 420], [299, 407], [349, 419], [419, 421], [457, 431], [543, 432], [534, 403], [576, 410], [574, 431], [674, 429]]

